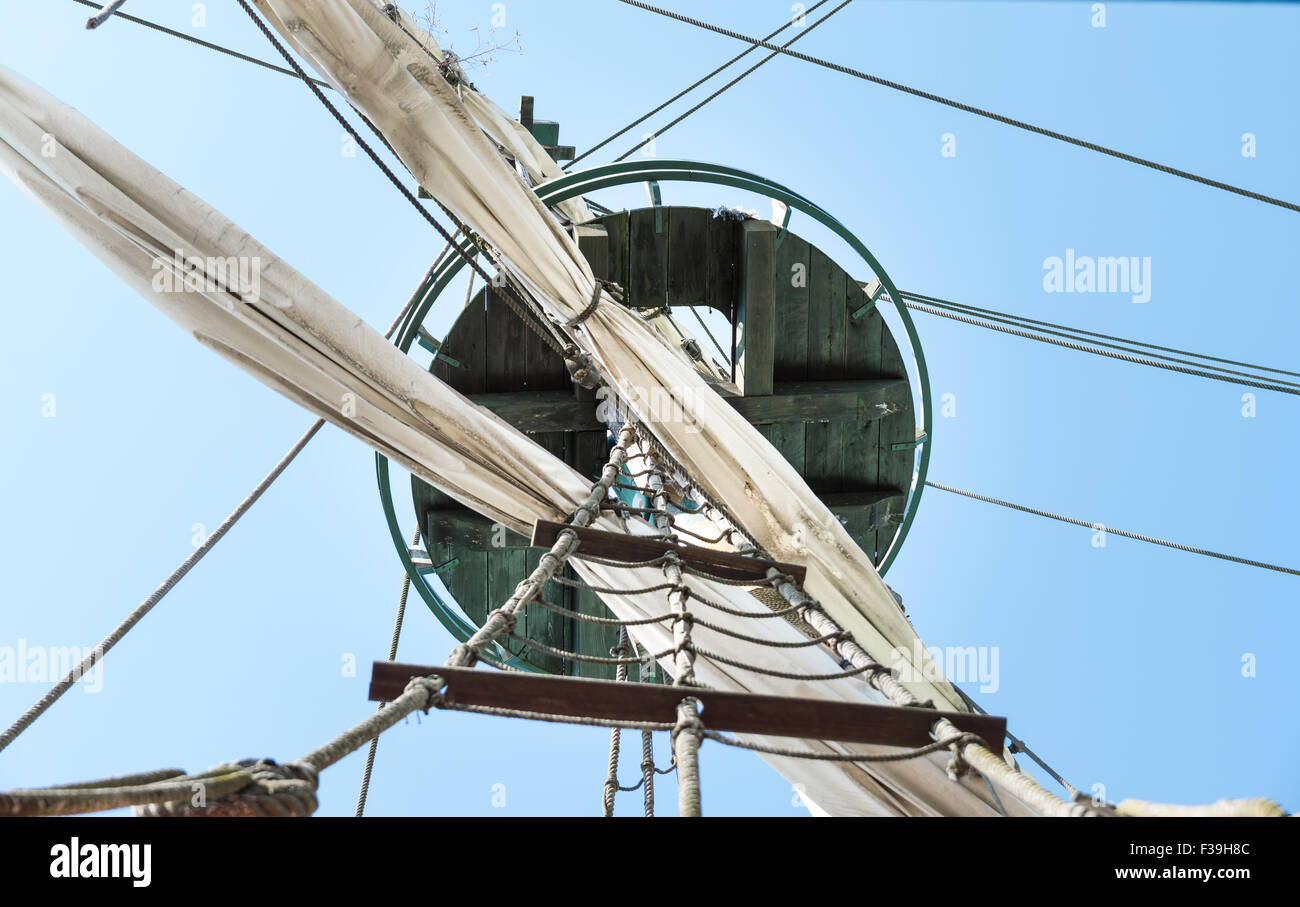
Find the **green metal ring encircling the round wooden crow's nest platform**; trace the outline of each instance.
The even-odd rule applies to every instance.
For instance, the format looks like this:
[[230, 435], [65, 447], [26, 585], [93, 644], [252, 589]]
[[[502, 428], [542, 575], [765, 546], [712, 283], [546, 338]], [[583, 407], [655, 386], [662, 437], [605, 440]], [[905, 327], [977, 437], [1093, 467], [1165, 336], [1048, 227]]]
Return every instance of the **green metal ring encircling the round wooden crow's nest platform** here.
[[[793, 190], [759, 177], [758, 174], [737, 168], [685, 160], [623, 161], [566, 174], [549, 183], [536, 187], [536, 192], [542, 201], [555, 205], [577, 195], [582, 195], [584, 192], [594, 192], [601, 188], [625, 186], [646, 181], [702, 182], [715, 186], [732, 186], [734, 188], [749, 190], [758, 195], [766, 195], [784, 201], [789, 207], [803, 212], [844, 239], [849, 247], [853, 248], [853, 251], [857, 252], [863, 261], [866, 261], [867, 266], [871, 268], [872, 274], [880, 278], [880, 282], [889, 292], [889, 299], [898, 311], [898, 316], [902, 318], [904, 327], [907, 331], [907, 340], [911, 344], [911, 352], [916, 364], [918, 383], [920, 385], [922, 396], [924, 441], [919, 444], [920, 463], [916, 466], [916, 479], [909, 490], [902, 525], [898, 528], [898, 533], [894, 535], [893, 542], [889, 546], [889, 551], [885, 555], [884, 561], [880, 564], [880, 574], [884, 576], [884, 573], [889, 569], [889, 565], [893, 564], [894, 557], [898, 555], [904, 538], [907, 535], [907, 530], [911, 528], [913, 520], [916, 516], [916, 508], [920, 504], [920, 492], [926, 487], [926, 473], [930, 466], [930, 442], [931, 438], [933, 438], [930, 372], [926, 368], [926, 356], [920, 350], [920, 339], [916, 335], [916, 327], [911, 321], [911, 314], [907, 312], [907, 307], [902, 303], [902, 296], [900, 295], [898, 288], [885, 273], [884, 268], [880, 266], [880, 262], [876, 261], [876, 257], [871, 255], [870, 249], [867, 249], [867, 247], [863, 246], [862, 242], [859, 242], [858, 238], [854, 236], [840, 221]], [[477, 249], [469, 239], [463, 239], [458, 243], [458, 246], [460, 251], [468, 253], [469, 256], [477, 255]], [[398, 329], [394, 343], [399, 350], [402, 350], [402, 352], [410, 352], [411, 344], [415, 343], [416, 337], [419, 337], [419, 325], [424, 324], [424, 320], [429, 314], [429, 309], [433, 308], [433, 304], [464, 266], [465, 260], [452, 249], [447, 249], [447, 253], [434, 264], [434, 268], [416, 291], [416, 304], [411, 307], [411, 311], [403, 318]], [[398, 525], [396, 508], [393, 503], [393, 486], [389, 478], [389, 459], [382, 454], [376, 454], [374, 463], [378, 477], [380, 499], [384, 505], [384, 518], [389, 525], [389, 533], [393, 537], [394, 546], [396, 546], [402, 567], [406, 569], [407, 576], [411, 577], [411, 585], [438, 621], [446, 626], [456, 639], [460, 642], [467, 641], [474, 633], [476, 628], [442, 600], [438, 593], [424, 578], [424, 574], [420, 573], [411, 561], [411, 555], [407, 551], [406, 537], [402, 534], [402, 529]], [[511, 658], [507, 659], [507, 663], [524, 671], [540, 671], [520, 659]]]

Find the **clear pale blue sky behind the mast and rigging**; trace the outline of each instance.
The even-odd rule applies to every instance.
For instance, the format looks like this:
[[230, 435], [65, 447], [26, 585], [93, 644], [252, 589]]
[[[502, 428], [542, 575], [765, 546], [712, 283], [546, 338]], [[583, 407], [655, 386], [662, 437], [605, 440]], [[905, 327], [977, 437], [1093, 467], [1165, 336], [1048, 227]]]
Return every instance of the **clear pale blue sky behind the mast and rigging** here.
[[[809, 4], [811, 5], [811, 4]], [[835, 4], [823, 8], [829, 9]], [[422, 4], [408, 3], [413, 12]], [[766, 35], [774, 0], [676, 3]], [[234, 3], [126, 10], [261, 58]], [[741, 45], [614, 0], [507, 0], [476, 84], [537, 97], [584, 149]], [[384, 330], [442, 247], [294, 79], [129, 22], [86, 31], [70, 0], [0, 8], [0, 62], [81, 109]], [[490, 3], [439, 4], [462, 52]], [[1288, 4], [857, 0], [807, 53], [1173, 166], [1300, 199], [1300, 8]], [[755, 62], [750, 55], [744, 65]], [[734, 73], [738, 73], [738, 68]], [[689, 101], [688, 101], [689, 103]], [[642, 131], [597, 152], [603, 162]], [[941, 136], [956, 135], [956, 157]], [[1252, 133], [1257, 156], [1242, 155]], [[904, 288], [1295, 369], [1300, 214], [777, 58], [656, 142], [724, 161], [829, 209]], [[664, 186], [666, 204], [767, 201]], [[599, 196], [644, 205], [638, 188]], [[796, 216], [792, 229], [822, 243]], [[853, 270], [842, 247], [824, 243]], [[1067, 248], [1152, 261], [1152, 296], [1050, 295]], [[312, 422], [200, 348], [25, 195], [0, 183], [0, 646], [94, 646]], [[454, 308], [454, 307], [451, 307]], [[1295, 567], [1300, 402], [915, 316], [936, 402], [930, 476], [1017, 503]], [[437, 327], [438, 325], [432, 325]], [[445, 326], [445, 325], [442, 325]], [[424, 360], [421, 360], [424, 361]], [[53, 394], [55, 417], [42, 413]], [[404, 476], [395, 486], [404, 489]], [[403, 531], [413, 528], [404, 495]], [[989, 711], [1076, 786], [1108, 799], [1300, 806], [1294, 648], [1300, 580], [1092, 533], [931, 490], [889, 582], [927, 645], [996, 646]], [[374, 457], [326, 428], [265, 498], [105, 660], [0, 754], [0, 789], [228, 759], [292, 759], [367, 716], [400, 567]], [[400, 658], [451, 637], [412, 598]], [[1243, 676], [1253, 656], [1256, 676]], [[355, 677], [343, 665], [355, 656]], [[1287, 667], [1292, 665], [1292, 667]], [[0, 683], [0, 722], [47, 683]], [[380, 745], [373, 815], [597, 815], [602, 730], [434, 713]], [[630, 755], [630, 754], [629, 754]], [[659, 741], [660, 764], [667, 746]], [[634, 758], [624, 780], [636, 777]], [[322, 777], [350, 815], [363, 756]], [[706, 746], [705, 810], [802, 815], [755, 756]], [[493, 806], [494, 785], [506, 804]], [[670, 778], [663, 812], [673, 811]], [[620, 812], [640, 812], [637, 794]]]

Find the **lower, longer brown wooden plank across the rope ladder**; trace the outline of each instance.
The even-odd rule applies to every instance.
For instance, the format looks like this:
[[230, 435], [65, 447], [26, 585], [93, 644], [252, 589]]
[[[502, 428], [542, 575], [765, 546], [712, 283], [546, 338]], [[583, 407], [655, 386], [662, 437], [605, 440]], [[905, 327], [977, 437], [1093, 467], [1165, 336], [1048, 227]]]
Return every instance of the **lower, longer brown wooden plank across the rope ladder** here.
[[447, 685], [443, 699], [459, 706], [493, 706], [608, 721], [672, 722], [677, 717], [677, 704], [689, 694], [699, 700], [705, 726], [711, 730], [920, 747], [932, 742], [930, 728], [942, 717], [958, 730], [978, 734], [994, 752], [1002, 751], [1006, 735], [1006, 719], [971, 712], [725, 693], [705, 687], [685, 691], [660, 683], [616, 683], [389, 661], [374, 663], [369, 698], [372, 702], [393, 702], [412, 677], [432, 674]]

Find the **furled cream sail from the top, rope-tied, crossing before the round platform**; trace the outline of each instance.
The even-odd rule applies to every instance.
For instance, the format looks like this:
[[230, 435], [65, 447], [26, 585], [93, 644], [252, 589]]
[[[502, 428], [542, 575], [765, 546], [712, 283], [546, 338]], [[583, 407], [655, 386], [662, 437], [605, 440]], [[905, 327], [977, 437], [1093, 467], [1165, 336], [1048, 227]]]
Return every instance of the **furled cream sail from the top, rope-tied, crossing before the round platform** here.
[[[384, 133], [420, 185], [477, 230], [549, 313], [576, 318], [594, 277], [577, 244], [497, 153], [458, 88], [370, 0], [255, 0], [321, 77]], [[906, 665], [920, 700], [965, 711], [845, 528], [784, 457], [645, 322], [604, 296], [582, 343], [637, 417], [777, 560], [806, 564], [806, 589], [883, 664]], [[670, 400], [664, 407], [659, 402]], [[667, 409], [670, 418], [656, 418]], [[919, 656], [919, 658], [918, 658]]]

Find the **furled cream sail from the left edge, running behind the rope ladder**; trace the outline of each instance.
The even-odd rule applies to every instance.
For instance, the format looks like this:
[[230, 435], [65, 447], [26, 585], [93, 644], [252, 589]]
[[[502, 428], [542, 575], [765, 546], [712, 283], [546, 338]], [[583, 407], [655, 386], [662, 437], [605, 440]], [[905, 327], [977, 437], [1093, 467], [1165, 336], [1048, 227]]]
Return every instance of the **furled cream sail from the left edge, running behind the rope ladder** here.
[[[407, 469], [489, 517], [528, 531], [563, 518], [589, 481], [526, 435], [476, 407], [402, 355], [355, 313], [330, 299], [217, 211], [118, 146], [94, 123], [0, 68], [0, 170], [151, 304], [268, 386], [329, 418]], [[247, 265], [247, 266], [244, 266]], [[604, 515], [610, 530], [649, 531]], [[576, 564], [594, 585], [645, 587], [653, 568]], [[701, 594], [753, 609], [742, 590], [692, 581]], [[662, 613], [662, 593], [618, 596], [620, 617]], [[796, 639], [780, 620], [718, 622], [774, 641]], [[753, 656], [725, 635], [697, 628], [701, 647]], [[662, 626], [638, 633], [651, 651], [671, 647]], [[819, 648], [783, 650], [780, 665], [827, 673]], [[833, 668], [831, 668], [833, 669]], [[862, 700], [859, 680], [792, 683], [698, 661], [699, 680], [718, 689]], [[838, 745], [786, 741], [811, 752]], [[878, 751], [853, 747], [857, 752]], [[805, 789], [805, 799], [837, 815], [988, 815], [988, 793], [950, 784], [942, 758], [879, 767], [841, 767], [768, 758]], [[1009, 811], [1023, 807], [1004, 797]]]

